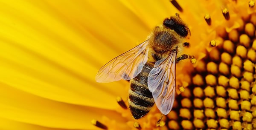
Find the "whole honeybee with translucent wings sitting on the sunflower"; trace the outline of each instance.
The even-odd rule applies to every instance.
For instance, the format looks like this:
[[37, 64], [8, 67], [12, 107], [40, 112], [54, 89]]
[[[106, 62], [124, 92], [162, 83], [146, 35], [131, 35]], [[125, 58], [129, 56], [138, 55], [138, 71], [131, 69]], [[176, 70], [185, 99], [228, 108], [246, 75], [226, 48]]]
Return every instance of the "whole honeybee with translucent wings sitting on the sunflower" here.
[[191, 56], [181, 52], [189, 43], [189, 28], [178, 15], [166, 18], [140, 45], [117, 56], [97, 73], [97, 82], [130, 81], [128, 105], [135, 119], [145, 116], [156, 104], [167, 115], [175, 101], [176, 64]]

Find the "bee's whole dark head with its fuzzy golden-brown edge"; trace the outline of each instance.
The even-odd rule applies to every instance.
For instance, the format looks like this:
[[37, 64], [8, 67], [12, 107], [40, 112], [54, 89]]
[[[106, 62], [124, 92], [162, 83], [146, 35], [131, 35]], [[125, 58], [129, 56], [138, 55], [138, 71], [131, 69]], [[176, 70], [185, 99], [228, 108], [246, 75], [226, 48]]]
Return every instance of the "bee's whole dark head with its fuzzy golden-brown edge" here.
[[177, 16], [171, 16], [170, 18], [166, 18], [163, 21], [163, 26], [166, 28], [174, 30], [180, 37], [185, 38], [188, 34], [190, 34], [190, 30], [187, 25]]

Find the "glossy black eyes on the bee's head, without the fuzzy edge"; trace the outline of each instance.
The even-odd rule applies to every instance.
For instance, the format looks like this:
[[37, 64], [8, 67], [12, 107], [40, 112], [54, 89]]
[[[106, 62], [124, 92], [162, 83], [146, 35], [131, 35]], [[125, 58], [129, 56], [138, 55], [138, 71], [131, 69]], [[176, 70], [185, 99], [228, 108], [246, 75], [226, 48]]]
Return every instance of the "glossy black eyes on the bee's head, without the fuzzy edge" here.
[[186, 26], [183, 24], [179, 24], [175, 19], [165, 19], [163, 21], [163, 26], [166, 26], [167, 28], [174, 30], [175, 32], [177, 32], [178, 35], [180, 35], [183, 38], [188, 35]]

